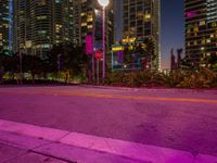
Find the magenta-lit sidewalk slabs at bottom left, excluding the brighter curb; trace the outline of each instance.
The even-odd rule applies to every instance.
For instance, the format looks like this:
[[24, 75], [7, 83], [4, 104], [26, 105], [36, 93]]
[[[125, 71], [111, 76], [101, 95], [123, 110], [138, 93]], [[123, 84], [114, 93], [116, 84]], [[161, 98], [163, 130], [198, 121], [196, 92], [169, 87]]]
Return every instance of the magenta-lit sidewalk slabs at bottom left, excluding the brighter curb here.
[[[145, 163], [67, 146], [42, 138], [0, 131], [0, 163]], [[148, 162], [146, 162], [148, 163]]]

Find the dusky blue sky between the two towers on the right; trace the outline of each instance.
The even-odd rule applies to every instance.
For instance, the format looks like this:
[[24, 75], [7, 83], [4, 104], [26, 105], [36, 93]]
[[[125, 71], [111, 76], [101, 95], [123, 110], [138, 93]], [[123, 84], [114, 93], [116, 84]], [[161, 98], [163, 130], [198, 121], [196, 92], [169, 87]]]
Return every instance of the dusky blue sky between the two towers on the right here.
[[170, 66], [171, 48], [184, 49], [183, 0], [162, 0], [162, 68]]

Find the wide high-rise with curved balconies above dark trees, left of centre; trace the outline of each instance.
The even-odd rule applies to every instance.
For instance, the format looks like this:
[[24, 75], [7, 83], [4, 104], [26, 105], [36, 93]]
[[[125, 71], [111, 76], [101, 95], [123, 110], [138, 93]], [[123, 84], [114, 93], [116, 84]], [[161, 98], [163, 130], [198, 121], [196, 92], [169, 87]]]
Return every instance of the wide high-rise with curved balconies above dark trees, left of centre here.
[[14, 1], [14, 51], [42, 57], [53, 45], [74, 43], [74, 0]]

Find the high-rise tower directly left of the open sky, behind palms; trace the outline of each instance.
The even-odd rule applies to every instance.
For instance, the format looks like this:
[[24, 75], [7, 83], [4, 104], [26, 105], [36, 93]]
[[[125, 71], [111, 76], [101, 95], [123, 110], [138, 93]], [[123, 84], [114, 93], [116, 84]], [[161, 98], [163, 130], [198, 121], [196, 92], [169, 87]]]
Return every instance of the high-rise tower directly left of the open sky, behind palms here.
[[123, 0], [122, 8], [123, 38], [136, 38], [137, 40], [152, 38], [156, 55], [151, 63], [152, 68], [159, 68], [161, 0]]

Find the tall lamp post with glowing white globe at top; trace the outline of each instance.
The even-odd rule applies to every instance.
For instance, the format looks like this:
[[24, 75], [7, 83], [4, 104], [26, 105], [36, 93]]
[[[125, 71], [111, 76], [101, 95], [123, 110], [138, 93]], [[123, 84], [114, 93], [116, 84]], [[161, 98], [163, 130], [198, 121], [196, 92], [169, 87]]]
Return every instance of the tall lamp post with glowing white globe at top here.
[[98, 2], [102, 7], [102, 51], [103, 51], [102, 84], [104, 85], [104, 79], [105, 79], [105, 8], [108, 5], [110, 0], [98, 0]]

